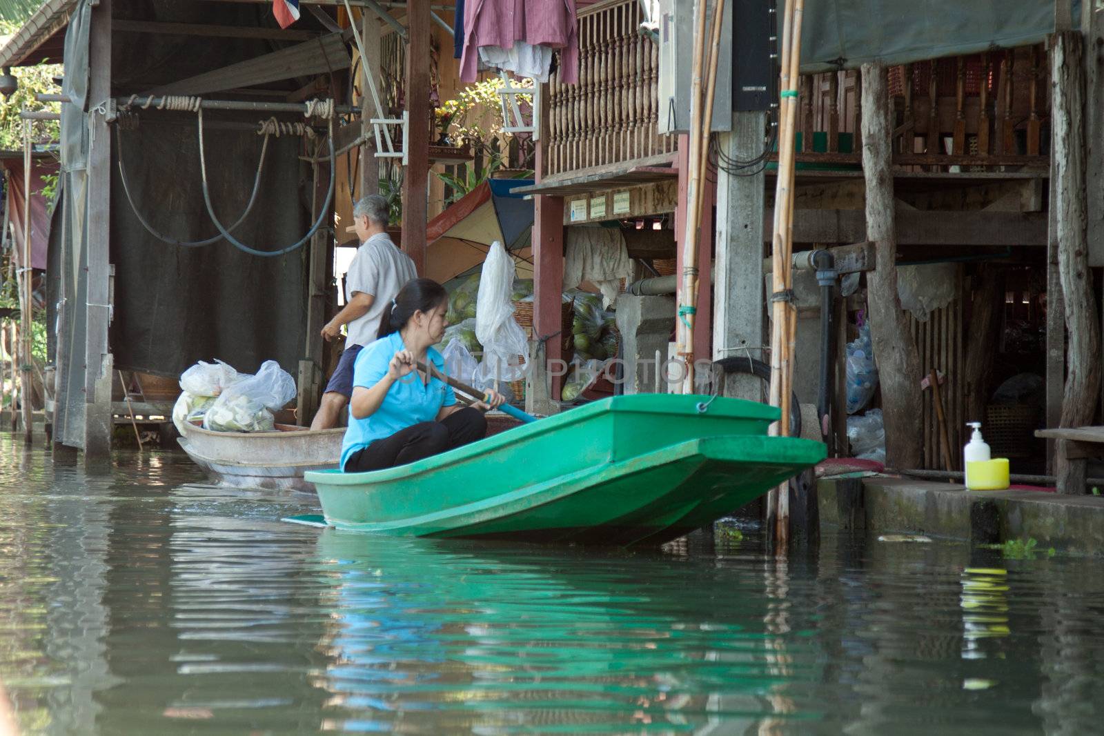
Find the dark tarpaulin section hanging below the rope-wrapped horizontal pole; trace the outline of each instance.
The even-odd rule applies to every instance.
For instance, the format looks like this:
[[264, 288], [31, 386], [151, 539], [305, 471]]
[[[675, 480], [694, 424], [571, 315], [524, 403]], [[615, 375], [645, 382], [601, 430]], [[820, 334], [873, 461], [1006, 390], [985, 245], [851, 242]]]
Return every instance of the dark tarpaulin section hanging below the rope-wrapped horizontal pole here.
[[[135, 204], [152, 227], [188, 241], [216, 234], [203, 203], [195, 116], [179, 118], [182, 125], [144, 121], [137, 130], [123, 131], [121, 151], [115, 151], [115, 365], [179, 375], [199, 360], [217, 358], [247, 372], [276, 360], [295, 375], [306, 344], [306, 247], [261, 258], [225, 241], [168, 245], [147, 233], [127, 202], [117, 168], [120, 153]], [[211, 118], [227, 115], [205, 115], [204, 121], [211, 125]], [[248, 203], [262, 137], [208, 130], [204, 138], [212, 204], [229, 227]], [[310, 226], [302, 194], [314, 180], [299, 153], [298, 138], [269, 140], [256, 204], [234, 231], [241, 242], [275, 250]]]

